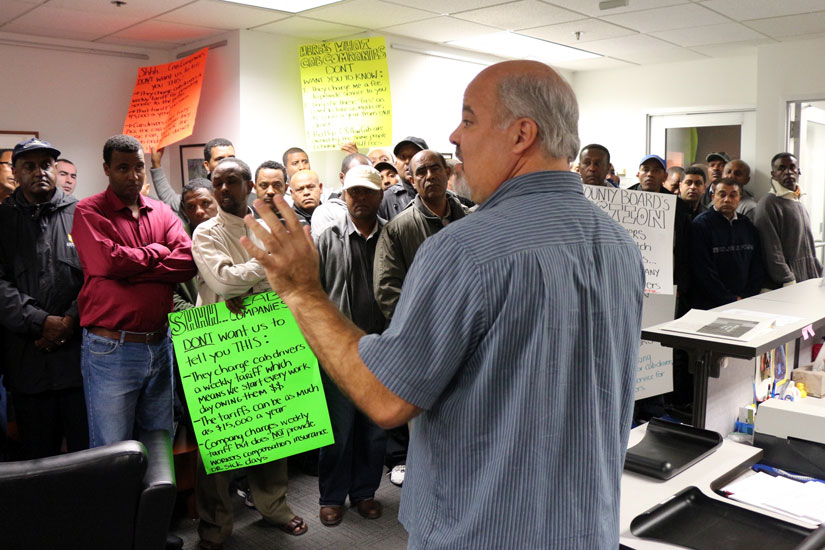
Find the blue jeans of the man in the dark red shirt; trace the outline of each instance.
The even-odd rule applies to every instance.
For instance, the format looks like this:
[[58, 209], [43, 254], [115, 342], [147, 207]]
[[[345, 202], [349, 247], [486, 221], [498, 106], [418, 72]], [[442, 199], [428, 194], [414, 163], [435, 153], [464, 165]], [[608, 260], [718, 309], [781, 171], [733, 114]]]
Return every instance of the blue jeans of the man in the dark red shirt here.
[[83, 329], [80, 357], [89, 446], [100, 447], [143, 432], [172, 433], [172, 341], [141, 344]]

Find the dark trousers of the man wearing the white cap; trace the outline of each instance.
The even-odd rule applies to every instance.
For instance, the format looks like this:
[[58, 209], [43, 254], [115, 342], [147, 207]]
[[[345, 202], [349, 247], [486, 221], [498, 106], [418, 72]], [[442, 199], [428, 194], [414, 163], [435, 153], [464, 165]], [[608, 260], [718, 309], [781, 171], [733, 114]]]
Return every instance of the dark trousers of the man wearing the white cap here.
[[386, 432], [359, 411], [322, 373], [335, 443], [321, 448], [318, 488], [321, 506], [373, 498], [384, 471]]

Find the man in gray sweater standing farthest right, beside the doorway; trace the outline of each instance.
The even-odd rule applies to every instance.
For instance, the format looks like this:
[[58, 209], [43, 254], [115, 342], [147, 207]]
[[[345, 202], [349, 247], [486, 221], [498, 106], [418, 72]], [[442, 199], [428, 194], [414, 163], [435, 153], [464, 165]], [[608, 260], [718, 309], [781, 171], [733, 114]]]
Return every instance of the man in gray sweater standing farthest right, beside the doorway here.
[[822, 275], [816, 258], [811, 220], [799, 201], [799, 163], [791, 153], [771, 159], [771, 192], [756, 206], [755, 224], [765, 252], [771, 288]]

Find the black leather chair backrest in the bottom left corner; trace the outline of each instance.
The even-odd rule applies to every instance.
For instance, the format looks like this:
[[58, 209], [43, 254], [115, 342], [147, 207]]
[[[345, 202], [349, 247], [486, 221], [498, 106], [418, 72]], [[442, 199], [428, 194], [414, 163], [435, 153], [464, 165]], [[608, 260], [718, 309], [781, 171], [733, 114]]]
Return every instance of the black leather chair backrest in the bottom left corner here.
[[131, 549], [146, 449], [121, 441], [0, 463], [3, 548]]

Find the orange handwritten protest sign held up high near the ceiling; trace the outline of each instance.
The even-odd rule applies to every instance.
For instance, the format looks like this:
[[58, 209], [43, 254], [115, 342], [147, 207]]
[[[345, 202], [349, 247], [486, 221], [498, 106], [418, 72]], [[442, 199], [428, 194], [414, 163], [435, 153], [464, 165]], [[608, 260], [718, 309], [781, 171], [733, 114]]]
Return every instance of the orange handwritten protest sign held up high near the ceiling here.
[[140, 140], [146, 154], [192, 135], [208, 51], [138, 69], [123, 133]]

